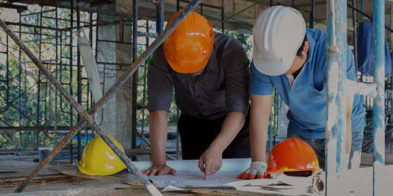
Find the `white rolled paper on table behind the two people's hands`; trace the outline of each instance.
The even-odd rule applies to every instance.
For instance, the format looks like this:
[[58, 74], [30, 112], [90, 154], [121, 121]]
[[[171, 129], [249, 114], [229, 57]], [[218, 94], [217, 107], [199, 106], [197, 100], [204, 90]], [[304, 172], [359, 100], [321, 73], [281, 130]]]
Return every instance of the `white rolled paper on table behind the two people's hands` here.
[[[169, 167], [172, 167], [177, 172], [201, 172], [198, 167], [199, 160], [170, 160], [166, 161]], [[139, 170], [147, 169], [151, 166], [150, 161], [135, 161], [133, 162]], [[243, 172], [251, 163], [251, 158], [244, 159], [223, 159], [223, 165], [220, 172]], [[240, 174], [240, 173], [239, 173]]]

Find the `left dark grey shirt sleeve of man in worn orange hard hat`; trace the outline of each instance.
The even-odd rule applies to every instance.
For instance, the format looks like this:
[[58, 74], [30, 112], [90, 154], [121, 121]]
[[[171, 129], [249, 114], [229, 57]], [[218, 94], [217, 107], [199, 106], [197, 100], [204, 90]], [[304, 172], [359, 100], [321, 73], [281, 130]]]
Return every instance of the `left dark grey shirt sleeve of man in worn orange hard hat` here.
[[172, 102], [172, 69], [166, 61], [162, 45], [153, 53], [147, 68], [147, 109], [168, 111]]

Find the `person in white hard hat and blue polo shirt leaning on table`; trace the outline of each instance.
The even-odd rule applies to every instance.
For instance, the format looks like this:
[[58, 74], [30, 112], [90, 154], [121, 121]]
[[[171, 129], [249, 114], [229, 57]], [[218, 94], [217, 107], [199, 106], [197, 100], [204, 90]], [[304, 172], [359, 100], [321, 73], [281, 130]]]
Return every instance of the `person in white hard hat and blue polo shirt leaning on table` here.
[[[253, 33], [254, 52], [249, 84], [252, 163], [238, 178], [262, 178], [266, 171], [266, 142], [273, 86], [290, 108], [287, 113], [288, 138], [294, 137], [309, 143], [317, 154], [320, 167], [324, 168], [326, 32], [306, 29], [297, 10], [274, 6], [260, 14]], [[346, 77], [357, 81], [353, 54], [348, 45], [346, 53]], [[363, 96], [347, 95], [346, 111], [346, 117], [350, 119], [346, 124], [346, 160], [348, 168], [355, 168], [360, 165], [365, 127]]]

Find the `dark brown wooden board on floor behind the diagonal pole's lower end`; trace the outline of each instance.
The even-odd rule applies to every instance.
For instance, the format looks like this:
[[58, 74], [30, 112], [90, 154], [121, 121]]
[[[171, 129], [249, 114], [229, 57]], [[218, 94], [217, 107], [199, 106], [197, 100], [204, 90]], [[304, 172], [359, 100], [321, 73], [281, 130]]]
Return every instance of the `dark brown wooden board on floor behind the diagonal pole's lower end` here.
[[[3, 177], [0, 178], [0, 187], [19, 186], [26, 177]], [[30, 181], [29, 185], [56, 184], [63, 182], [81, 182], [91, 180], [89, 178], [81, 178], [64, 174], [48, 174], [39, 175]]]

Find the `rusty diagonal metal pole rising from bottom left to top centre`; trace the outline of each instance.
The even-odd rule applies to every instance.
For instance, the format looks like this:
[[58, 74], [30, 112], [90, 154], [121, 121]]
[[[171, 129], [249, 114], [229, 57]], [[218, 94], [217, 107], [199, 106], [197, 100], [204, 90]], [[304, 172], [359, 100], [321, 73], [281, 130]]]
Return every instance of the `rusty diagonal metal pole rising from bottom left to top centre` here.
[[[186, 9], [180, 13], [176, 19], [171, 22], [167, 28], [157, 37], [157, 39], [146, 49], [146, 51], [130, 66], [123, 74], [123, 76], [117, 81], [105, 94], [101, 97], [101, 99], [92, 107], [90, 110], [90, 115], [93, 116], [97, 110], [99, 110], [105, 102], [110, 99], [110, 97], [125, 83], [127, 79], [138, 69], [138, 66], [144, 62], [152, 52], [154, 52], [158, 46], [164, 41], [164, 39], [179, 25], [181, 21], [195, 8], [201, 3], [202, 0], [195, 0], [188, 4]], [[3, 20], [0, 19], [0, 24], [3, 29], [6, 30], [7, 33], [13, 34], [11, 30], [8, 29]], [[7, 31], [8, 30], [8, 31]], [[19, 40], [16, 36], [15, 38]], [[20, 40], [19, 40], [20, 42]], [[23, 44], [23, 43], [21, 43]], [[26, 48], [27, 49], [27, 48]], [[34, 55], [33, 55], [34, 56]], [[53, 77], [52, 77], [53, 78]], [[74, 100], [75, 102], [75, 100]], [[84, 111], [84, 110], [83, 110]], [[59, 142], [59, 144], [55, 147], [55, 149], [43, 160], [37, 168], [26, 178], [26, 180], [15, 190], [15, 192], [21, 192], [28, 185], [31, 179], [33, 179], [38, 172], [45, 166], [49, 161], [53, 159], [53, 157], [64, 147], [66, 143], [68, 143], [71, 138], [83, 127], [84, 119], [82, 118], [78, 124]], [[106, 136], [106, 135], [105, 135]], [[104, 139], [104, 138], [103, 138]], [[111, 140], [112, 141], [112, 140]], [[117, 146], [115, 146], [117, 148]], [[129, 159], [128, 159], [129, 160]]]

